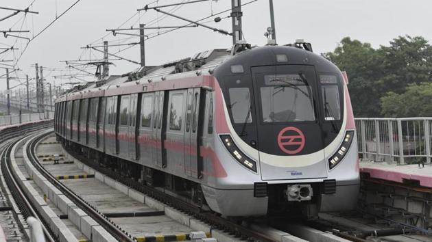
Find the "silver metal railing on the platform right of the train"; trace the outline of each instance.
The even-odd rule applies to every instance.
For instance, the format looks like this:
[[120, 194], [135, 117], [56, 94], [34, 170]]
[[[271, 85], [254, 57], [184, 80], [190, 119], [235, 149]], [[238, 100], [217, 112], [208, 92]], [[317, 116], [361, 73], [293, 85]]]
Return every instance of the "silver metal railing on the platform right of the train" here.
[[359, 157], [431, 163], [432, 118], [356, 118]]

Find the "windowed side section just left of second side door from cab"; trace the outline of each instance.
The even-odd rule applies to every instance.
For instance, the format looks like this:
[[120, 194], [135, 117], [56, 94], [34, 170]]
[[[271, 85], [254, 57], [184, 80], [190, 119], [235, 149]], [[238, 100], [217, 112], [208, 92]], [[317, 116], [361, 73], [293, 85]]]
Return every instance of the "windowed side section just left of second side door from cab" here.
[[[152, 164], [156, 157], [156, 105], [158, 102], [154, 93], [141, 96], [141, 121], [139, 122], [139, 157], [144, 164]], [[158, 99], [158, 98], [157, 98]], [[153, 133], [155, 134], [153, 137]]]

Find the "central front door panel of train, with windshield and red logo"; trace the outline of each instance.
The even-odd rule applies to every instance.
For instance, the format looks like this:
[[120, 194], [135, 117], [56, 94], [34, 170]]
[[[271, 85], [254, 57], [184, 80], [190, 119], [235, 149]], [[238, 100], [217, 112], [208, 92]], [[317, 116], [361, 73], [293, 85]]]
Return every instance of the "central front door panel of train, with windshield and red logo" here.
[[325, 178], [315, 68], [254, 67], [252, 79], [261, 178]]

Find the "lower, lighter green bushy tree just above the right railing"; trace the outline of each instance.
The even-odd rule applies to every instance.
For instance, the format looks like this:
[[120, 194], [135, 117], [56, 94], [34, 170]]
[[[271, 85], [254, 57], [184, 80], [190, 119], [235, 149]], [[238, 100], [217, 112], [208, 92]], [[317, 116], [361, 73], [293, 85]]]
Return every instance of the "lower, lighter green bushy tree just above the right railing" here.
[[381, 113], [385, 117], [432, 117], [432, 83], [410, 84], [405, 92], [387, 92], [381, 98]]

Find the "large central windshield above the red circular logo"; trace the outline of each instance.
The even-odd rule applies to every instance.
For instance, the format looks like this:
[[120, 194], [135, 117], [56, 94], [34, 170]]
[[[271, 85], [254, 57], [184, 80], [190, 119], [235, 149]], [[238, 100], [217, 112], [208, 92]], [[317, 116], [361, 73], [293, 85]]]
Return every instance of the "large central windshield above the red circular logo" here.
[[264, 75], [259, 87], [265, 123], [314, 121], [312, 89], [305, 75]]

